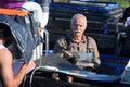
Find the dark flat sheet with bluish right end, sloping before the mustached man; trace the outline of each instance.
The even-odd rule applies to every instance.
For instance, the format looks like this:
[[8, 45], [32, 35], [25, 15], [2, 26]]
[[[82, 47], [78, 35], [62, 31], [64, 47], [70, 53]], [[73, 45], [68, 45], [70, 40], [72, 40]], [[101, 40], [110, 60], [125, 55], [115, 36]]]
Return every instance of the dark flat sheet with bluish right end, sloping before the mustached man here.
[[[90, 73], [86, 70], [81, 70], [66, 59], [63, 59], [54, 53], [50, 53], [42, 59], [38, 59], [35, 61], [37, 69], [39, 66], [39, 62], [41, 62], [41, 67], [39, 66], [39, 72], [47, 73], [58, 73], [60, 76], [72, 76], [74, 79], [78, 79], [81, 83], [90, 83], [90, 84], [99, 84], [99, 85], [110, 85], [115, 83], [119, 83], [120, 75], [106, 75], [100, 73]], [[39, 73], [40, 74], [40, 73]]]

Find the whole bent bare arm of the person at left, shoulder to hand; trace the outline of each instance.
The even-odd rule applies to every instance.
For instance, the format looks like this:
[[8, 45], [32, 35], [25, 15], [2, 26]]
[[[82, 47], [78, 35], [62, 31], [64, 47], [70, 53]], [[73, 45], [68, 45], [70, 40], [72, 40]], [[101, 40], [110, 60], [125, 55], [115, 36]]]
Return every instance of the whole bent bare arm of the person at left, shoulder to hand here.
[[8, 50], [3, 50], [2, 52], [2, 58], [1, 58], [1, 67], [2, 67], [2, 77], [5, 87], [18, 87], [26, 74], [26, 72], [35, 66], [34, 62], [30, 62], [27, 65], [23, 65], [20, 72], [14, 76], [13, 75], [13, 70], [12, 70], [12, 54]]

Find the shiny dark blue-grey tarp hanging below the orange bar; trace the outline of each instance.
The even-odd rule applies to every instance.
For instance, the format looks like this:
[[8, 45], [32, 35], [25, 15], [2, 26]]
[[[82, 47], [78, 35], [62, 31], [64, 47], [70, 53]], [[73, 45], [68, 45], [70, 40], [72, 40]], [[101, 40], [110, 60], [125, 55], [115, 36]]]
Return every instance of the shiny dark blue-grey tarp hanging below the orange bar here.
[[0, 14], [0, 23], [4, 23], [10, 27], [16, 41], [16, 46], [18, 47], [18, 50], [24, 57], [26, 63], [30, 61], [32, 50], [40, 42], [40, 35], [36, 29], [37, 25], [34, 25], [35, 23], [32, 23], [32, 18], [30, 20], [30, 24], [27, 25], [25, 22], [25, 16], [9, 16]]

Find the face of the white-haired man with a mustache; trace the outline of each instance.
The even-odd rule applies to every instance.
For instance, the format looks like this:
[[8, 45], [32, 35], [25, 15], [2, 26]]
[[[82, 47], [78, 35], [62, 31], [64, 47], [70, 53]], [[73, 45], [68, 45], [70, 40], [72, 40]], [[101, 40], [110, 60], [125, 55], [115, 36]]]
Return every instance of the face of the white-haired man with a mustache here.
[[75, 36], [82, 36], [87, 27], [87, 22], [83, 17], [76, 17], [72, 23], [72, 32]]

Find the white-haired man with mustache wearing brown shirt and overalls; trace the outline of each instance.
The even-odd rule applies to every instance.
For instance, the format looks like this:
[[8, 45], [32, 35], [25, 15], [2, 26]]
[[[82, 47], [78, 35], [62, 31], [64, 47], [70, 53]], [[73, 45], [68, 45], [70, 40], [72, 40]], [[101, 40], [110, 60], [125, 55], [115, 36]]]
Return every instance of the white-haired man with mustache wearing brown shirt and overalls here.
[[[96, 69], [101, 64], [98, 46], [92, 37], [83, 35], [86, 28], [86, 16], [75, 14], [70, 22], [70, 34], [61, 37], [56, 41], [53, 52], [60, 57], [67, 58], [67, 60], [78, 67], [87, 70], [88, 67]], [[89, 53], [92, 55], [87, 58]]]

